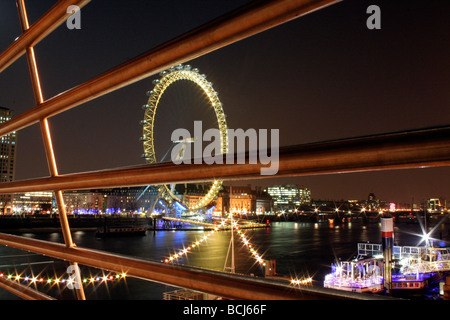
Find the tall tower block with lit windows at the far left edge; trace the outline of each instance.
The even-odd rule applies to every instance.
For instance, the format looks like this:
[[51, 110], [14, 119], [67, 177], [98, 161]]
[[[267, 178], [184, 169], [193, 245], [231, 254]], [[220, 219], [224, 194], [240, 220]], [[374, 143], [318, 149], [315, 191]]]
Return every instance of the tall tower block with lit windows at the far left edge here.
[[[0, 124], [11, 120], [12, 110], [0, 107]], [[14, 181], [16, 160], [16, 132], [1, 137], [0, 144], [0, 182]], [[0, 214], [13, 213], [13, 195], [0, 196]]]

